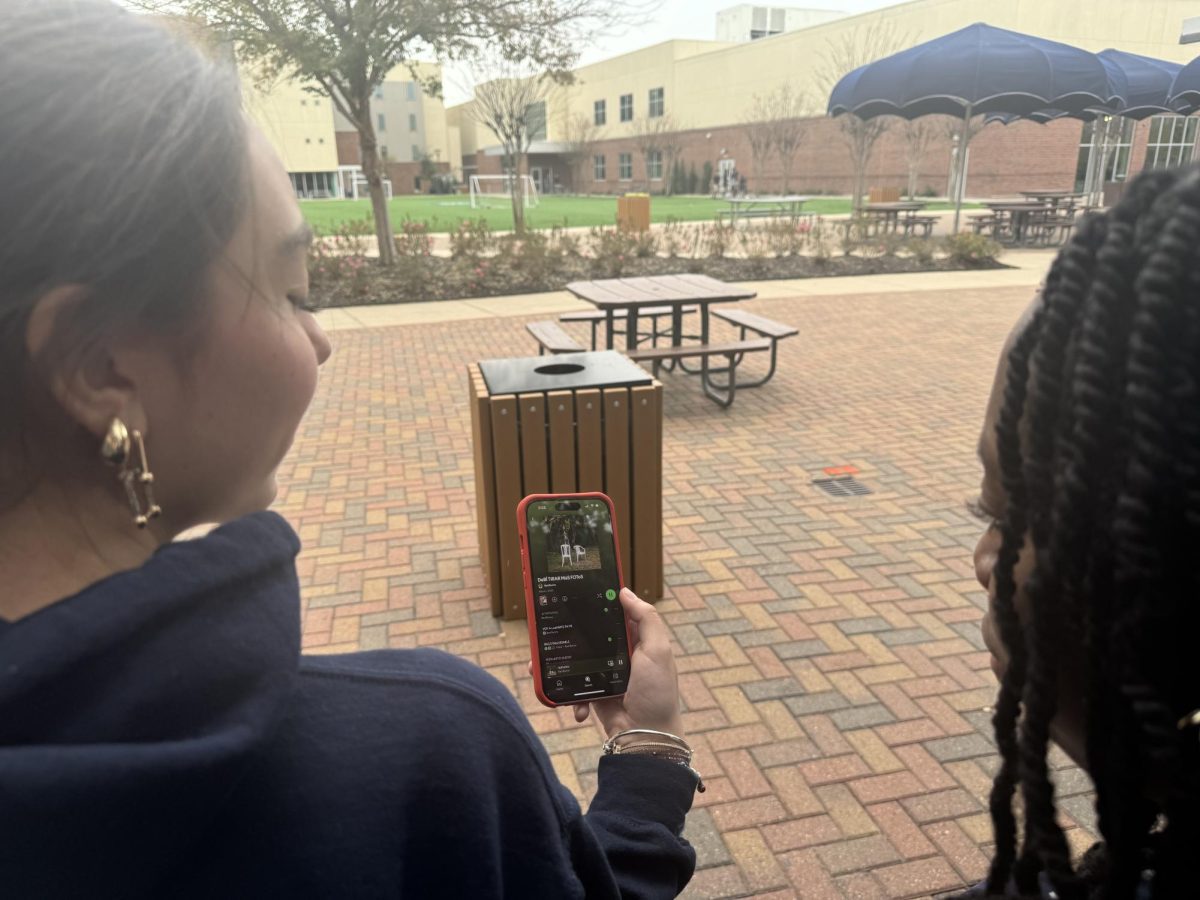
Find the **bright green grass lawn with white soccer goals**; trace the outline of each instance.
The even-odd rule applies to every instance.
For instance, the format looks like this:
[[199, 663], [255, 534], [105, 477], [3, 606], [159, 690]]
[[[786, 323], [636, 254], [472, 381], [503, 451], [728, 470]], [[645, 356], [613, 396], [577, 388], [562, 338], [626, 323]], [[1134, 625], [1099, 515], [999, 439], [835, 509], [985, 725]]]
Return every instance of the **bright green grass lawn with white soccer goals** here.
[[[976, 204], [964, 204], [973, 206]], [[370, 218], [370, 200], [300, 200], [300, 209], [312, 227], [328, 234], [342, 222]], [[650, 218], [666, 222], [677, 218], [685, 222], [710, 222], [720, 210], [728, 209], [725, 200], [709, 197], [652, 197]], [[929, 209], [949, 209], [947, 203], [930, 203]], [[432, 232], [454, 230], [462, 220], [484, 218], [492, 230], [512, 229], [512, 210], [508, 202], [492, 199], [486, 209], [472, 209], [470, 200], [461, 196], [394, 197], [389, 204], [391, 223], [396, 230], [406, 218], [427, 222]], [[850, 212], [848, 197], [818, 197], [804, 204], [805, 212], [834, 215]], [[571, 228], [611, 226], [617, 221], [616, 197], [542, 197], [541, 204], [527, 214], [534, 228], [569, 226]]]

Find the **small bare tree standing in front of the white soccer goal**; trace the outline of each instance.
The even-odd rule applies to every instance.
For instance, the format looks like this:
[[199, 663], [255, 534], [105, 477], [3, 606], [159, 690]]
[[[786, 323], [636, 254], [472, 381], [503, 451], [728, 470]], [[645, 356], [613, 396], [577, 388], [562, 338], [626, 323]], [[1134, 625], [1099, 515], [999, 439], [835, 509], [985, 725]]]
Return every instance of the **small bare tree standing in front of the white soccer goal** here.
[[546, 97], [551, 76], [529, 66], [493, 56], [473, 68], [475, 96], [470, 115], [500, 142], [504, 174], [512, 198], [512, 230], [524, 234], [524, 191], [521, 175], [534, 133], [546, 124]]

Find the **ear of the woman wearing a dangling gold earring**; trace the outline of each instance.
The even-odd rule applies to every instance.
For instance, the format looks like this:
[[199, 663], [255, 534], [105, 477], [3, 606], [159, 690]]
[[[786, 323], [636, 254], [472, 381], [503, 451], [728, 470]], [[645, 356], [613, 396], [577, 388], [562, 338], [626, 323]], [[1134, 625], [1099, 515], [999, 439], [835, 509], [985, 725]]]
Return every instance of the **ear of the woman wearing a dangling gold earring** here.
[[49, 358], [64, 323], [76, 316], [88, 299], [88, 289], [64, 284], [43, 294], [29, 314], [25, 347], [50, 395], [76, 424], [100, 439], [114, 418], [130, 428], [145, 431], [145, 414], [132, 382], [115, 365], [114, 347], [106, 336], [86, 338], [68, 358]]

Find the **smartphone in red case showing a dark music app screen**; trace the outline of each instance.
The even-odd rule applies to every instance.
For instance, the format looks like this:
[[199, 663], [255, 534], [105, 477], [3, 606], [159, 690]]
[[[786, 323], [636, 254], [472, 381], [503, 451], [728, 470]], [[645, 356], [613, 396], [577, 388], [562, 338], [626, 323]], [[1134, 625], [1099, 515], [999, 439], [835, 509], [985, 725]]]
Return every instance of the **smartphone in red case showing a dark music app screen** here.
[[616, 520], [602, 493], [530, 494], [517, 506], [533, 684], [548, 707], [625, 692]]

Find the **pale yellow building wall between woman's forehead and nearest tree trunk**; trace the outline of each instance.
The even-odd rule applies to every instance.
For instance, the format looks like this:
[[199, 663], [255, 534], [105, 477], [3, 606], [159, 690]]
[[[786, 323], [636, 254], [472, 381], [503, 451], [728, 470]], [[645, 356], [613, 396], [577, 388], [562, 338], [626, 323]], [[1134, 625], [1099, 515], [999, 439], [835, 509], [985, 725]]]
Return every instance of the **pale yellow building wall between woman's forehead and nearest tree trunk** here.
[[288, 172], [336, 172], [334, 102], [310, 94], [298, 80], [256, 83], [242, 76], [246, 112], [258, 122]]

